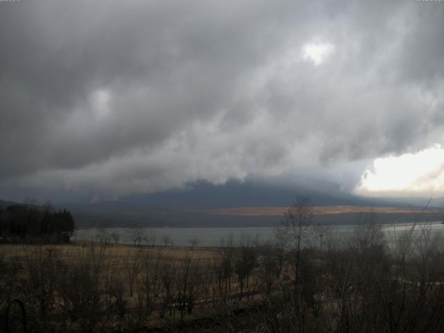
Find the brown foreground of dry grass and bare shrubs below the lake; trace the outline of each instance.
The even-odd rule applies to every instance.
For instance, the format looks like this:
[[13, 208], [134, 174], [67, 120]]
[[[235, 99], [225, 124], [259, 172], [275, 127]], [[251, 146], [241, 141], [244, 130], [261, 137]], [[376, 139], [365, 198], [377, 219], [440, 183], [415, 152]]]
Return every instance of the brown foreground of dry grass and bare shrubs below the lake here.
[[340, 244], [312, 216], [296, 200], [273, 244], [119, 246], [105, 230], [97, 242], [5, 244], [1, 330], [441, 332], [444, 248], [427, 223], [388, 248], [375, 213]]

